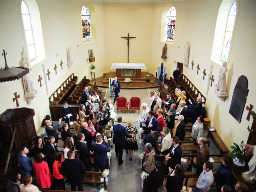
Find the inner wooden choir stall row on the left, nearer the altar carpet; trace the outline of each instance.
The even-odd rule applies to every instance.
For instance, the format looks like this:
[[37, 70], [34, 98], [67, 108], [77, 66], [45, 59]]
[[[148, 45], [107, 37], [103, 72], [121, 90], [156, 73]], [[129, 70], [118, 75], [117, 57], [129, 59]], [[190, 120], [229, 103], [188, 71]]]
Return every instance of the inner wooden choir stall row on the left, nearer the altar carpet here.
[[86, 76], [82, 78], [82, 80], [78, 83], [76, 88], [73, 90], [73, 92], [68, 97], [68, 103], [69, 104], [79, 104], [82, 93], [84, 92], [84, 88], [88, 86], [90, 83], [90, 80], [86, 79]]

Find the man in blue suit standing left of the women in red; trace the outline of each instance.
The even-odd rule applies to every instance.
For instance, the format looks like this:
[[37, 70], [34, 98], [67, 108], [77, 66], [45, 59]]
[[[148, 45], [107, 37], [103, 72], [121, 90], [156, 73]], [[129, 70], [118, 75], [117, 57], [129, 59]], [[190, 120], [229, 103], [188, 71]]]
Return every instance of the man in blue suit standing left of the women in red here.
[[18, 157], [18, 162], [20, 164], [20, 175], [21, 179], [26, 175], [33, 175], [33, 164], [30, 158], [27, 157], [28, 149], [23, 146], [20, 148], [20, 154]]

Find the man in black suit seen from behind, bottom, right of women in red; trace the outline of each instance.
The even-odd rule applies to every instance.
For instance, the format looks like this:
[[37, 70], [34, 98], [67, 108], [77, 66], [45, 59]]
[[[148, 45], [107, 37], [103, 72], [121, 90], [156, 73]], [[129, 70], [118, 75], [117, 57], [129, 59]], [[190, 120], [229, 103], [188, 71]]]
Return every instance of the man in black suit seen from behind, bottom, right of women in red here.
[[68, 159], [62, 162], [61, 174], [67, 176], [72, 191], [76, 191], [76, 186], [78, 191], [83, 191], [83, 180], [86, 174], [84, 163], [75, 158], [75, 153], [72, 150], [68, 152], [67, 156]]

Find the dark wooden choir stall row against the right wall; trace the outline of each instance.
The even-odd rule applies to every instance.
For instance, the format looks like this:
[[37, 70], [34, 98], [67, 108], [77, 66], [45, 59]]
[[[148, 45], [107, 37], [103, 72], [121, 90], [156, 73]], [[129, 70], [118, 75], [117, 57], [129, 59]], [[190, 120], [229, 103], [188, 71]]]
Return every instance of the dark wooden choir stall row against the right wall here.
[[202, 103], [205, 104], [206, 97], [196, 88], [196, 86], [186, 77], [186, 75], [182, 74], [179, 78], [180, 84], [184, 87], [187, 98], [191, 98], [191, 100], [196, 101], [198, 96], [202, 97]]

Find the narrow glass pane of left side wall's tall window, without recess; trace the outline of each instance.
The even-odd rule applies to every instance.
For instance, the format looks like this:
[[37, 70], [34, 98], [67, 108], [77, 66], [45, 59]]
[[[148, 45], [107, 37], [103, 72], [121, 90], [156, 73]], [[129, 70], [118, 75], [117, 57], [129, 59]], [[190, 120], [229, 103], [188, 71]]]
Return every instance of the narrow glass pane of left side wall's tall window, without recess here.
[[33, 30], [31, 26], [30, 13], [28, 10], [28, 6], [24, 1], [21, 2], [21, 15], [22, 15], [23, 27], [24, 27], [25, 37], [26, 37], [28, 56], [30, 60], [34, 60], [36, 58], [36, 50], [35, 50]]

